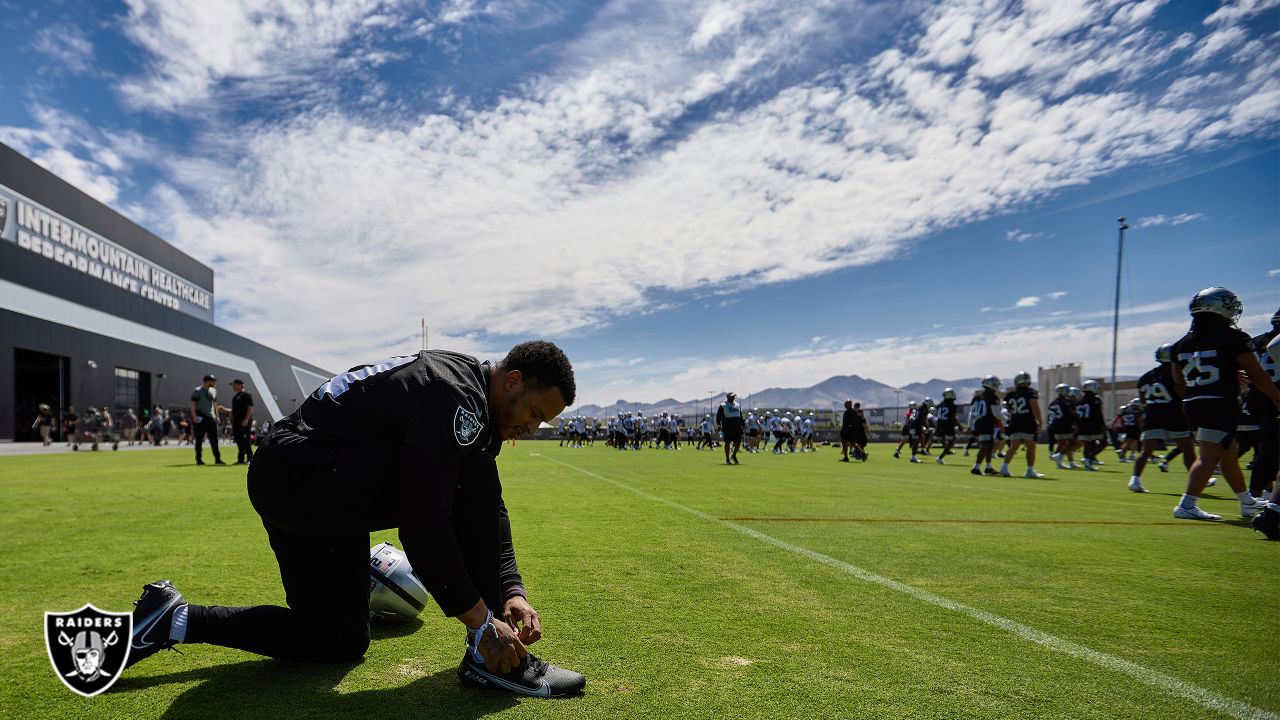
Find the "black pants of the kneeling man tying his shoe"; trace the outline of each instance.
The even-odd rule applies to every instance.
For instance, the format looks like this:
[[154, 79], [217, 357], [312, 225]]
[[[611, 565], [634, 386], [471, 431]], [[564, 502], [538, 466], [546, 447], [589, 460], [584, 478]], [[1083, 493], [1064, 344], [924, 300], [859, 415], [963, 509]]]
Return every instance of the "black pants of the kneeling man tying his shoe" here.
[[[396, 497], [394, 491], [370, 492], [370, 483], [394, 483], [396, 475], [383, 477], [384, 456], [361, 459], [361, 451], [344, 448], [338, 459], [300, 455], [285, 460], [259, 451], [248, 470], [248, 493], [280, 566], [287, 607], [192, 605], [186, 642], [311, 662], [349, 662], [365, 655], [369, 533], [380, 528], [362, 520], [371, 503]], [[497, 507], [502, 488], [497, 465], [483, 455], [463, 461], [452, 521], [471, 582], [485, 605], [500, 614]], [[461, 646], [461, 632], [458, 639]]]

